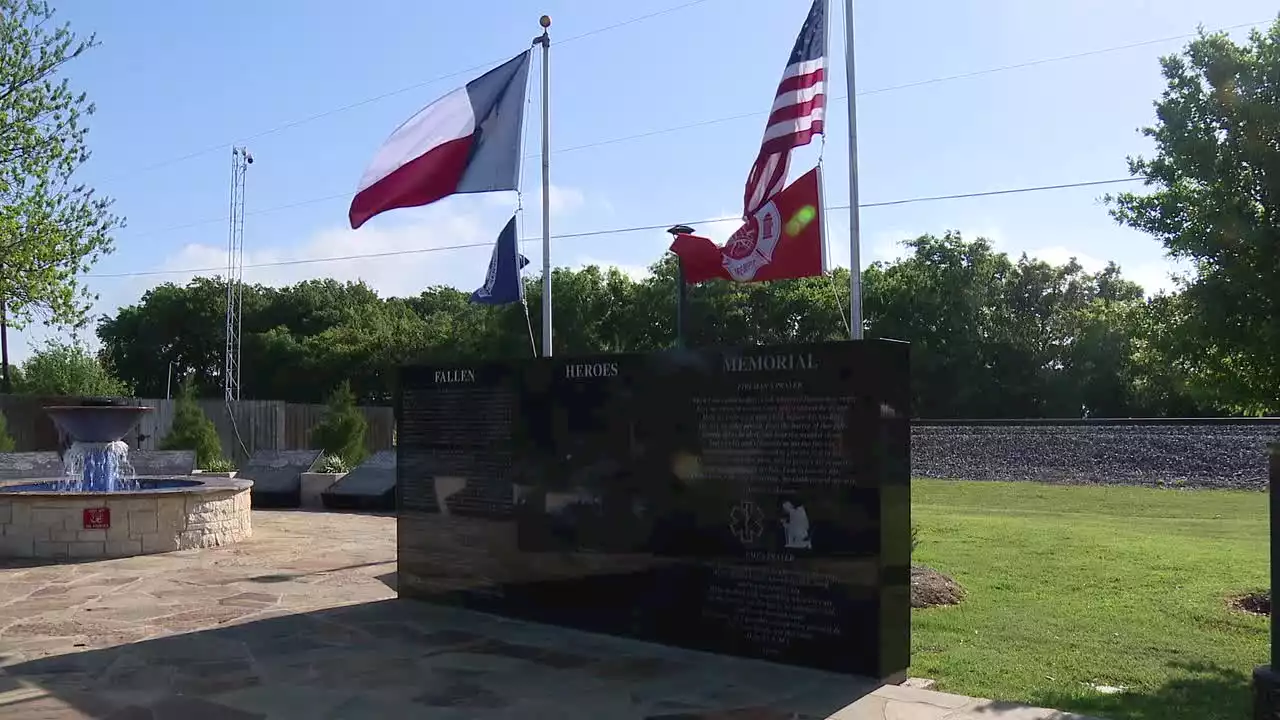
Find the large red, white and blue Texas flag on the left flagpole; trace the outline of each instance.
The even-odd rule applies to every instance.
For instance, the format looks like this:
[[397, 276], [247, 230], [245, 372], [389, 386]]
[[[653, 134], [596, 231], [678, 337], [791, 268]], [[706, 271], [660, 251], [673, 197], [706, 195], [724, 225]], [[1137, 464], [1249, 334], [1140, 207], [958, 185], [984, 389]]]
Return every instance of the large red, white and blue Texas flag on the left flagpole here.
[[517, 190], [530, 50], [431, 102], [374, 155], [351, 201], [351, 227], [461, 192]]

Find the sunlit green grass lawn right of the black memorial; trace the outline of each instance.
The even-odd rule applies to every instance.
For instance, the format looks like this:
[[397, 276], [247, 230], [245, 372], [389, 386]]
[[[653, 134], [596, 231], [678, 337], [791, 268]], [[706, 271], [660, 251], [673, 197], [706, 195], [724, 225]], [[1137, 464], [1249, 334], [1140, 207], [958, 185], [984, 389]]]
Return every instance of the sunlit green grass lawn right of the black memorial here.
[[915, 480], [913, 521], [915, 561], [969, 597], [913, 611], [911, 675], [1108, 720], [1251, 716], [1267, 621], [1224, 598], [1267, 585], [1266, 493]]

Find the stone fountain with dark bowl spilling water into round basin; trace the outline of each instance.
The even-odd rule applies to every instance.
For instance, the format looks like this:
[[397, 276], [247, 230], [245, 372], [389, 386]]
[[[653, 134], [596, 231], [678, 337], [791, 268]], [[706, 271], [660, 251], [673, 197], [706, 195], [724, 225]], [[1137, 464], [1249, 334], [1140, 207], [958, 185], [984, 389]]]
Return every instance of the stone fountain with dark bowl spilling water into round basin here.
[[0, 557], [127, 557], [250, 537], [251, 480], [133, 473], [123, 438], [151, 410], [113, 400], [45, 407], [70, 441], [64, 471], [0, 487]]

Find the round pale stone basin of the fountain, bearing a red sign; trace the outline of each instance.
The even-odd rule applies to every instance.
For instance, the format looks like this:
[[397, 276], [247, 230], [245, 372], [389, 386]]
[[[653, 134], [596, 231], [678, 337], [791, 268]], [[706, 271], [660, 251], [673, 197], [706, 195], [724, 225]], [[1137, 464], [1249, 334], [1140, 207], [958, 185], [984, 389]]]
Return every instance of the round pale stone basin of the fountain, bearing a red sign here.
[[110, 493], [41, 487], [60, 479], [0, 487], [0, 559], [129, 557], [218, 547], [253, 533], [252, 480], [138, 478], [141, 489]]

